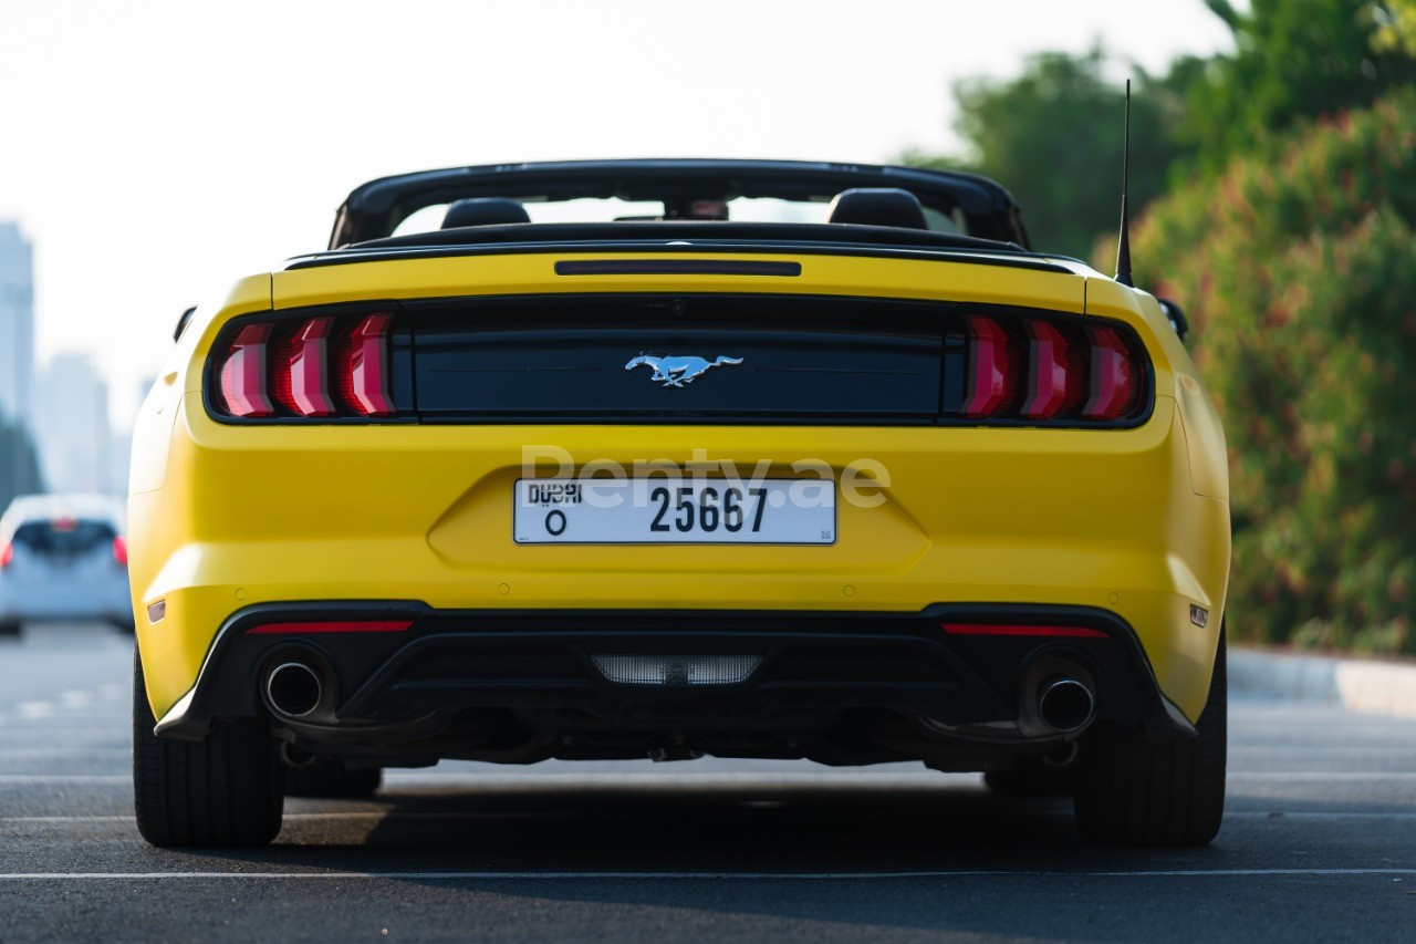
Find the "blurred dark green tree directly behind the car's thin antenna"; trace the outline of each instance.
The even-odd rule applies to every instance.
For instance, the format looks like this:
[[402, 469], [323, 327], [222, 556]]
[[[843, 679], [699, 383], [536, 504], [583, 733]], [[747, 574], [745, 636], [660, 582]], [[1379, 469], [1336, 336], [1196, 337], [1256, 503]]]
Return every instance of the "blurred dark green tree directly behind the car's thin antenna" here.
[[[1015, 79], [959, 82], [963, 159], [906, 153], [916, 166], [973, 170], [1003, 181], [1024, 208], [1034, 248], [1082, 257], [1121, 211], [1121, 89], [1106, 55], [1045, 52]], [[1178, 156], [1167, 126], [1178, 96], [1143, 79], [1131, 102], [1131, 206], [1161, 193]]]

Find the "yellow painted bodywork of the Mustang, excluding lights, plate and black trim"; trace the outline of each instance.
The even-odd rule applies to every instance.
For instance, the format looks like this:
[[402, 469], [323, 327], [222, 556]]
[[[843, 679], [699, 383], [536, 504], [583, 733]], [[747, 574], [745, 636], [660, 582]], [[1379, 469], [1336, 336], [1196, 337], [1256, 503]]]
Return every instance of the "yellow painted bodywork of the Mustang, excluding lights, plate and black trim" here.
[[[133, 438], [129, 573], [140, 714], [164, 737], [208, 737], [221, 719], [198, 717], [194, 696], [217, 685], [204, 675], [221, 670], [218, 636], [262, 607], [406, 601], [419, 612], [481, 615], [844, 619], [998, 605], [1007, 614], [1059, 608], [1114, 618], [1134, 634], [1141, 675], [1154, 679], [1177, 731], [1194, 733], [1222, 653], [1226, 451], [1214, 405], [1157, 299], [1072, 259], [1031, 255], [1038, 265], [1015, 266], [1005, 252], [986, 249], [930, 258], [712, 247], [694, 257], [733, 271], [623, 265], [684, 258], [683, 248], [647, 245], [371, 252], [255, 275], [198, 306]], [[576, 278], [558, 269], [565, 262], [620, 268]], [[780, 262], [799, 275], [739, 274]], [[214, 350], [242, 319], [436, 299], [649, 295], [908, 299], [1004, 312], [1000, 320], [1031, 310], [1090, 319], [1121, 326], [1138, 343], [1150, 361], [1150, 400], [1123, 428], [239, 424], [212, 411]], [[416, 319], [409, 309], [405, 320]], [[521, 544], [510, 498], [528, 455], [547, 478], [606, 462], [667, 462], [709, 479], [721, 461], [762, 463], [769, 478], [784, 479], [828, 469], [864, 482], [878, 499], [840, 503], [837, 537], [820, 546]], [[251, 666], [221, 683], [253, 692]], [[343, 682], [347, 693], [351, 683]], [[266, 712], [252, 703], [256, 714]], [[307, 734], [286, 740], [317, 743]]]

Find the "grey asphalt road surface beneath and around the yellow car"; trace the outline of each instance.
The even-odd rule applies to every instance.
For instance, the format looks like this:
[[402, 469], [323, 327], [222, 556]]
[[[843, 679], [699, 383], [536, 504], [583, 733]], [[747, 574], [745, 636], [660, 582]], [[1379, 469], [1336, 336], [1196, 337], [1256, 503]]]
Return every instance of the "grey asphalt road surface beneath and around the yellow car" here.
[[1232, 707], [1208, 849], [913, 764], [442, 764], [270, 849], [132, 822], [130, 641], [0, 641], [0, 940], [1416, 940], [1416, 721]]

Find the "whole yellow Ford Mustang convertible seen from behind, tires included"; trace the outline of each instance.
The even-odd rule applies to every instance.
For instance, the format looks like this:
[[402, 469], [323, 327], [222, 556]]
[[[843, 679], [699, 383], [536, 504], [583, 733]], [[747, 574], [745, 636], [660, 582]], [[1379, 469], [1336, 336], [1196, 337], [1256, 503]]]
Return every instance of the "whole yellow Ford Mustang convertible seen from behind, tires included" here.
[[1174, 306], [995, 183], [634, 160], [375, 180], [142, 408], [137, 824], [439, 758], [809, 758], [1222, 815], [1223, 434]]

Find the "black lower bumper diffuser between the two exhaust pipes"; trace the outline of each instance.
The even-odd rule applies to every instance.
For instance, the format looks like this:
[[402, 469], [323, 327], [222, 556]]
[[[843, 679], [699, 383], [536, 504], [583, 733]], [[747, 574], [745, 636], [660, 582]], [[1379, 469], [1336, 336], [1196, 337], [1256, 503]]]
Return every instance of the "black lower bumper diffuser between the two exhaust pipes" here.
[[[324, 619], [411, 625], [385, 632], [251, 632]], [[1055, 638], [946, 631], [1000, 622], [1097, 632]], [[596, 656], [616, 655], [739, 656], [753, 659], [755, 668], [731, 683], [624, 683], [598, 668]], [[865, 748], [843, 747], [840, 731], [871, 713], [922, 723], [954, 748], [1037, 748], [1063, 740], [1020, 727], [1029, 672], [1039, 661], [1065, 661], [1095, 680], [1093, 730], [1140, 730], [1153, 740], [1194, 734], [1161, 695], [1136, 634], [1104, 609], [937, 604], [915, 614], [440, 611], [396, 601], [239, 611], [218, 634], [197, 685], [157, 731], [201, 738], [214, 719], [270, 713], [262, 696], [265, 673], [292, 661], [316, 669], [324, 695], [309, 714], [276, 719], [287, 737], [313, 748], [394, 757], [606, 757], [656, 738], [697, 738], [709, 751], [800, 751], [851, 763]], [[823, 747], [827, 737], [833, 747]], [[881, 738], [872, 738], [865, 740], [878, 750]], [[910, 753], [905, 746], [895, 750]], [[888, 750], [869, 757], [889, 758]]]

